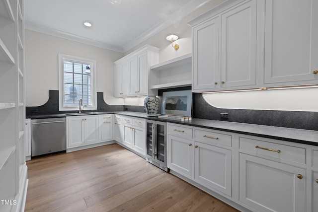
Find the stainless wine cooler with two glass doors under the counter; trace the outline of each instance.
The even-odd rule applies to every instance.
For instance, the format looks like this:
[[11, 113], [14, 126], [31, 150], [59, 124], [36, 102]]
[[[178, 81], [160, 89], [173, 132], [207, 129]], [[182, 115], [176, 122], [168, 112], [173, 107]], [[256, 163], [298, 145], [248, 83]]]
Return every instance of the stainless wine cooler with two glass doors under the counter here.
[[146, 160], [168, 172], [166, 165], [166, 123], [147, 120]]

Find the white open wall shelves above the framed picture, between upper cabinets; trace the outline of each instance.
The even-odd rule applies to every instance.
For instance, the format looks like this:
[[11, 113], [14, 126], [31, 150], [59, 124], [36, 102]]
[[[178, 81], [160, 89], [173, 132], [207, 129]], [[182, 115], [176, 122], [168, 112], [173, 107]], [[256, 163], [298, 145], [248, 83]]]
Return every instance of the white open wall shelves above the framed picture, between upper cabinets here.
[[191, 85], [191, 62], [192, 54], [186, 54], [163, 63], [151, 66], [155, 83], [150, 85], [151, 89], [164, 89], [184, 87]]

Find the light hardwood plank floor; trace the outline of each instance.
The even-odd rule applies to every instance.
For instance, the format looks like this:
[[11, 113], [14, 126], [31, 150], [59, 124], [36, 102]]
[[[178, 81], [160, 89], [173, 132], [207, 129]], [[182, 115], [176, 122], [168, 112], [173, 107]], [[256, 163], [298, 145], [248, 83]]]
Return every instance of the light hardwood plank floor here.
[[237, 212], [118, 144], [27, 162], [26, 212]]

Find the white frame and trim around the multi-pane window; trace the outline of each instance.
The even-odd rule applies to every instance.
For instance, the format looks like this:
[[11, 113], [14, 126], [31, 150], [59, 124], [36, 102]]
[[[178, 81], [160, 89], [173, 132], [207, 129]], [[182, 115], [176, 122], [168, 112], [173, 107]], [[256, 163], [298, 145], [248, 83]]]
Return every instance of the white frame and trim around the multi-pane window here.
[[79, 110], [79, 106], [64, 105], [64, 61], [90, 65], [92, 105], [84, 106], [83, 110], [97, 110], [96, 61], [76, 56], [59, 54], [59, 111]]

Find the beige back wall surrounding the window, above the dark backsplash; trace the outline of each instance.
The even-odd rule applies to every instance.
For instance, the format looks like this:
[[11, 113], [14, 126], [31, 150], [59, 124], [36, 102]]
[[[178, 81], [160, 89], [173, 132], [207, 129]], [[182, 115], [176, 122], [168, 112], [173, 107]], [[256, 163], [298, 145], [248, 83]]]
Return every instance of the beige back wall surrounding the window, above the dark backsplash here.
[[113, 62], [123, 54], [25, 30], [26, 106], [43, 105], [49, 98], [49, 90], [59, 89], [59, 53], [96, 60], [97, 92], [104, 92], [104, 100], [110, 105], [124, 103], [123, 99], [113, 97]]

